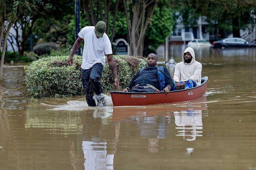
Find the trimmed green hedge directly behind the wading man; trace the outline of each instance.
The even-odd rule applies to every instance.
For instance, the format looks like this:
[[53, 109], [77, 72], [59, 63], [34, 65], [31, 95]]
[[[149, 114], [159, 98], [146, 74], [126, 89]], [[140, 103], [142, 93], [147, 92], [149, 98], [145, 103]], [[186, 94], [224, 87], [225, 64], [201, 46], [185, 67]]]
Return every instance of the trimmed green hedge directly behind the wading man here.
[[[120, 87], [126, 86], [142, 67], [147, 66], [145, 58], [133, 56], [113, 56]], [[66, 62], [68, 56], [54, 56], [34, 61], [24, 66], [25, 80], [31, 97], [65, 97], [84, 94], [81, 82], [82, 56], [74, 56], [73, 66]], [[107, 64], [102, 72], [103, 90], [112, 90], [113, 74]]]

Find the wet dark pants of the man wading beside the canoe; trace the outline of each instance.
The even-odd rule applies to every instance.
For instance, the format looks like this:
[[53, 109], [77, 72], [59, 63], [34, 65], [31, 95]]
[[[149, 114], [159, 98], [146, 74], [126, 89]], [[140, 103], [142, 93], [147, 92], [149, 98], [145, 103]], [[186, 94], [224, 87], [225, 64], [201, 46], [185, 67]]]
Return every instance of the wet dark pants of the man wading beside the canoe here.
[[101, 63], [94, 64], [89, 69], [81, 69], [82, 72], [82, 85], [85, 90], [85, 97], [88, 106], [96, 106], [94, 99], [94, 92], [96, 95], [102, 93], [101, 88], [101, 74], [103, 70], [103, 65]]

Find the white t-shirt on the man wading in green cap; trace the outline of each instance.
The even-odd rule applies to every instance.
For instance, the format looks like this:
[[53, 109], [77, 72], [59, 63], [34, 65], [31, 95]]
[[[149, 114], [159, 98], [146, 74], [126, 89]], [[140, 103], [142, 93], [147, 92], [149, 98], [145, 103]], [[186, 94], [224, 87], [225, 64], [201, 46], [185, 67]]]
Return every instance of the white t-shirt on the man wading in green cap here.
[[84, 50], [82, 55], [82, 69], [89, 69], [96, 63], [102, 63], [105, 66], [105, 54], [112, 54], [111, 42], [107, 34], [102, 38], [97, 38], [94, 32], [95, 27], [84, 27], [80, 30], [78, 36], [84, 39]]

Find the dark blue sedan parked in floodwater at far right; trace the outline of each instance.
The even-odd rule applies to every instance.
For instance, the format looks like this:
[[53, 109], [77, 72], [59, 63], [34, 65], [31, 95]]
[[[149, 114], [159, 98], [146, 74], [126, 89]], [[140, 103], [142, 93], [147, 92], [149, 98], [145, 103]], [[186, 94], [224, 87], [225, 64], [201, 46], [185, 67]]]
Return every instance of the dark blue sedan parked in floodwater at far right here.
[[219, 41], [214, 41], [213, 47], [222, 49], [227, 47], [256, 47], [256, 44], [242, 38], [224, 38]]

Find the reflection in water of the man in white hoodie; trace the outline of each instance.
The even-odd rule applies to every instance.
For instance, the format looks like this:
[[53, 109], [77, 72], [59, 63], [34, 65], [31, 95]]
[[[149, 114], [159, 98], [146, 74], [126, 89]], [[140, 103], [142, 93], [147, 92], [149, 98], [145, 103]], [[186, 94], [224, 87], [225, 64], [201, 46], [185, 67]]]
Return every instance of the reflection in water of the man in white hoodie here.
[[178, 129], [178, 135], [183, 136], [184, 140], [194, 141], [197, 136], [202, 136], [203, 122], [202, 122], [202, 110], [174, 112], [176, 129]]

